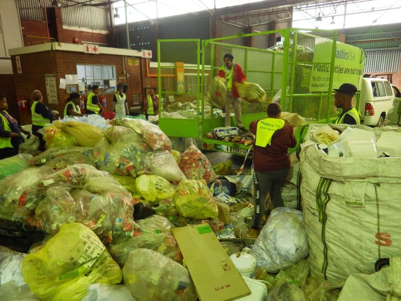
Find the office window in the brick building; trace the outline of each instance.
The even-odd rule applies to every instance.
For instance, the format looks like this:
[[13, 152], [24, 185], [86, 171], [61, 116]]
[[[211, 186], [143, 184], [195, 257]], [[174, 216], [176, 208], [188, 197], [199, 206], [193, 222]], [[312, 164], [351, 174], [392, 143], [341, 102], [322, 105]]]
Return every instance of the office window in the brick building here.
[[116, 91], [116, 67], [108, 65], [77, 65], [79, 92], [89, 93], [93, 85], [100, 92]]

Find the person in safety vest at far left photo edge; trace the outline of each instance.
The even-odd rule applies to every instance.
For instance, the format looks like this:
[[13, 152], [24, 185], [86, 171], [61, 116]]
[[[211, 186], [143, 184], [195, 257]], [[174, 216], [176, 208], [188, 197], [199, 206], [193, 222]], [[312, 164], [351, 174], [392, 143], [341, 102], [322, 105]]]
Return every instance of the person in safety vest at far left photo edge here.
[[31, 136], [31, 133], [24, 130], [16, 119], [7, 110], [9, 105], [6, 96], [0, 92], [0, 159], [18, 155], [20, 144], [25, 141], [21, 132]]

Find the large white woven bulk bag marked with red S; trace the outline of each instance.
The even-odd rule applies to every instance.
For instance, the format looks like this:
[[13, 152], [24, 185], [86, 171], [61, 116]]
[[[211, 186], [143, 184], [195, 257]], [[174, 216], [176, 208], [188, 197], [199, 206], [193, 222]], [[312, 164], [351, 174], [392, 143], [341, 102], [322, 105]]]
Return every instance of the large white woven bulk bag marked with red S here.
[[300, 153], [311, 271], [329, 279], [373, 273], [377, 259], [401, 253], [401, 158], [328, 157], [308, 140], [319, 126], [309, 126]]

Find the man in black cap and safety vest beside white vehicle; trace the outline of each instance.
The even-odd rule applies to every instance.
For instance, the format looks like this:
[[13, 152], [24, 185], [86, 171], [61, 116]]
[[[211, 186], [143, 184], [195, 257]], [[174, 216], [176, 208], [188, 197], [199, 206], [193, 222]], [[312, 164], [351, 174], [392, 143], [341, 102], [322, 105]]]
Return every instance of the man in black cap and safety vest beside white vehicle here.
[[335, 124], [360, 124], [358, 111], [352, 105], [352, 99], [358, 89], [353, 84], [342, 84], [338, 89], [334, 89], [334, 105], [342, 109], [341, 114], [335, 120]]

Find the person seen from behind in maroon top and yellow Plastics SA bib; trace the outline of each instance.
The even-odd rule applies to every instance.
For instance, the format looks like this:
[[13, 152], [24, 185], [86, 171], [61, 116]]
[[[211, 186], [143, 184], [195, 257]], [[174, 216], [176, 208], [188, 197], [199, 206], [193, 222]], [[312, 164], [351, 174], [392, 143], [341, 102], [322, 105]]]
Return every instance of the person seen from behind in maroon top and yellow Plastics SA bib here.
[[254, 185], [255, 207], [253, 224], [248, 236], [258, 237], [262, 217], [265, 214], [265, 199], [268, 193], [273, 207], [283, 207], [281, 187], [290, 170], [288, 148], [295, 147], [297, 140], [294, 129], [281, 119], [281, 106], [271, 103], [267, 107], [267, 117], [252, 121], [250, 131], [256, 135], [254, 140]]

